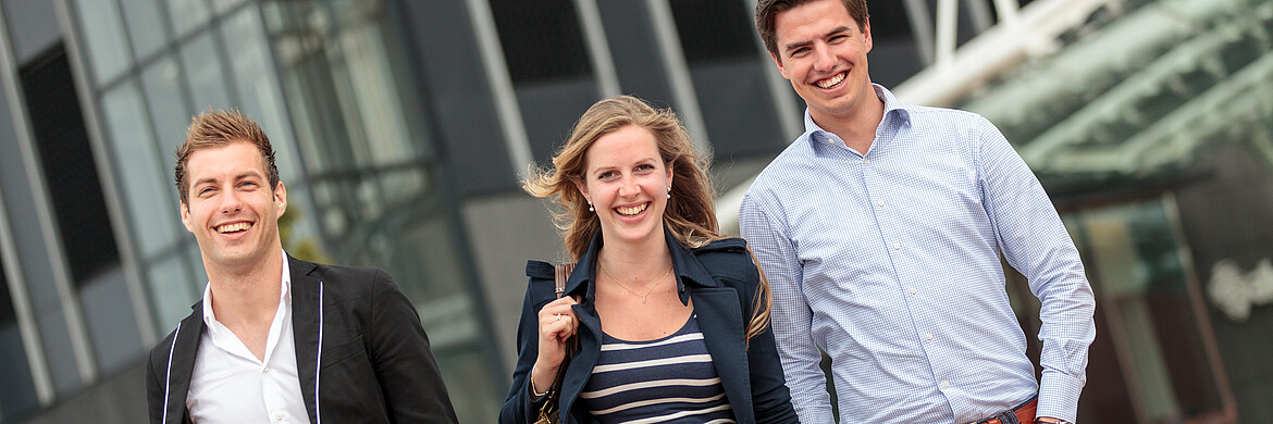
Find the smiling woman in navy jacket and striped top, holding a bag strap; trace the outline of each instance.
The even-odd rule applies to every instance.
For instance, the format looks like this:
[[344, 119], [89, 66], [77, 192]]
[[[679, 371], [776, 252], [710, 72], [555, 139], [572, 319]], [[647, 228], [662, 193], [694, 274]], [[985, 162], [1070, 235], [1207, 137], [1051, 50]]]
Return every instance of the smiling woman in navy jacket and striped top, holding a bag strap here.
[[524, 187], [558, 202], [578, 262], [561, 297], [551, 265], [527, 264], [500, 423], [537, 421], [554, 407], [561, 423], [796, 421], [768, 283], [742, 239], [718, 234], [704, 159], [676, 115], [633, 97], [602, 99], [552, 164]]

